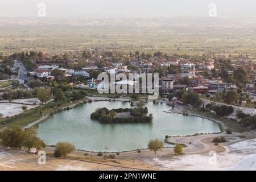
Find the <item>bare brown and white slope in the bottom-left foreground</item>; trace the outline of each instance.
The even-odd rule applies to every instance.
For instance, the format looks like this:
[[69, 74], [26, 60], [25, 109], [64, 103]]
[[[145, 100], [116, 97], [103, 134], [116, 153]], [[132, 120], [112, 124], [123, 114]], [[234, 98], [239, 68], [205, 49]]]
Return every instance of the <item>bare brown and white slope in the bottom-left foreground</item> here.
[[46, 164], [38, 164], [38, 155], [27, 154], [20, 150], [10, 150], [9, 148], [0, 147], [0, 171], [9, 170], [56, 170], [56, 171], [87, 171], [87, 170], [153, 170], [158, 169], [147, 165], [146, 163], [134, 160], [102, 160], [102, 162], [90, 161], [85, 159], [59, 159], [46, 157]]

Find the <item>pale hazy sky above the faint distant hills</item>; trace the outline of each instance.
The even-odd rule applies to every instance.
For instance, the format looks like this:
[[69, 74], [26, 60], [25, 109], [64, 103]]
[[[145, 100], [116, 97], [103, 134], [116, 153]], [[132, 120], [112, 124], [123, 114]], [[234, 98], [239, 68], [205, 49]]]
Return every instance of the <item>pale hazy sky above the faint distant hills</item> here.
[[221, 18], [256, 16], [255, 0], [1, 0], [0, 17], [36, 17], [40, 2], [48, 18], [208, 16], [209, 3]]

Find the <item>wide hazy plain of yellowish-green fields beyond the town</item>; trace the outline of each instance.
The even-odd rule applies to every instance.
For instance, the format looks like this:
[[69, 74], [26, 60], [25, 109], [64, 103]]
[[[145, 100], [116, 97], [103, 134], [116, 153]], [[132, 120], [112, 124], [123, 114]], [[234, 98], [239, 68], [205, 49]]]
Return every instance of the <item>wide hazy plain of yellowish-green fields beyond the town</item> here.
[[146, 53], [162, 51], [187, 55], [256, 55], [256, 32], [251, 31], [253, 24], [133, 19], [121, 23], [117, 20], [31, 20], [26, 23], [2, 26], [1, 52], [35, 49], [58, 54], [98, 48], [123, 53], [139, 50]]

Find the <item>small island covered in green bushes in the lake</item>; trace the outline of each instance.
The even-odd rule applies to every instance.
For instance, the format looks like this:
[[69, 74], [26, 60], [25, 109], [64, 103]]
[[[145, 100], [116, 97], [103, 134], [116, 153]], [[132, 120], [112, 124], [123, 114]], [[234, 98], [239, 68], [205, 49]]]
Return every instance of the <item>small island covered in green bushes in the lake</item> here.
[[109, 110], [106, 107], [98, 108], [92, 114], [91, 119], [96, 119], [101, 123], [146, 123], [152, 122], [153, 116], [147, 116], [147, 107], [138, 107], [134, 109], [119, 108]]

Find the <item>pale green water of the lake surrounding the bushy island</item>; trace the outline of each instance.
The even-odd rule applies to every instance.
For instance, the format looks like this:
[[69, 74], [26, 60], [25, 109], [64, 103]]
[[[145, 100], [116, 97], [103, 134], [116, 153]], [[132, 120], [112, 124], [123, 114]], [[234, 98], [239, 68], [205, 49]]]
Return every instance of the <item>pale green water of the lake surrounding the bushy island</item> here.
[[88, 151], [127, 151], [146, 148], [148, 140], [164, 140], [165, 135], [189, 135], [219, 132], [218, 125], [208, 119], [164, 113], [166, 104], [147, 104], [152, 123], [101, 124], [90, 119], [98, 107], [109, 109], [130, 107], [129, 102], [92, 102], [77, 109], [56, 114], [42, 123], [38, 135], [47, 144], [67, 141]]

